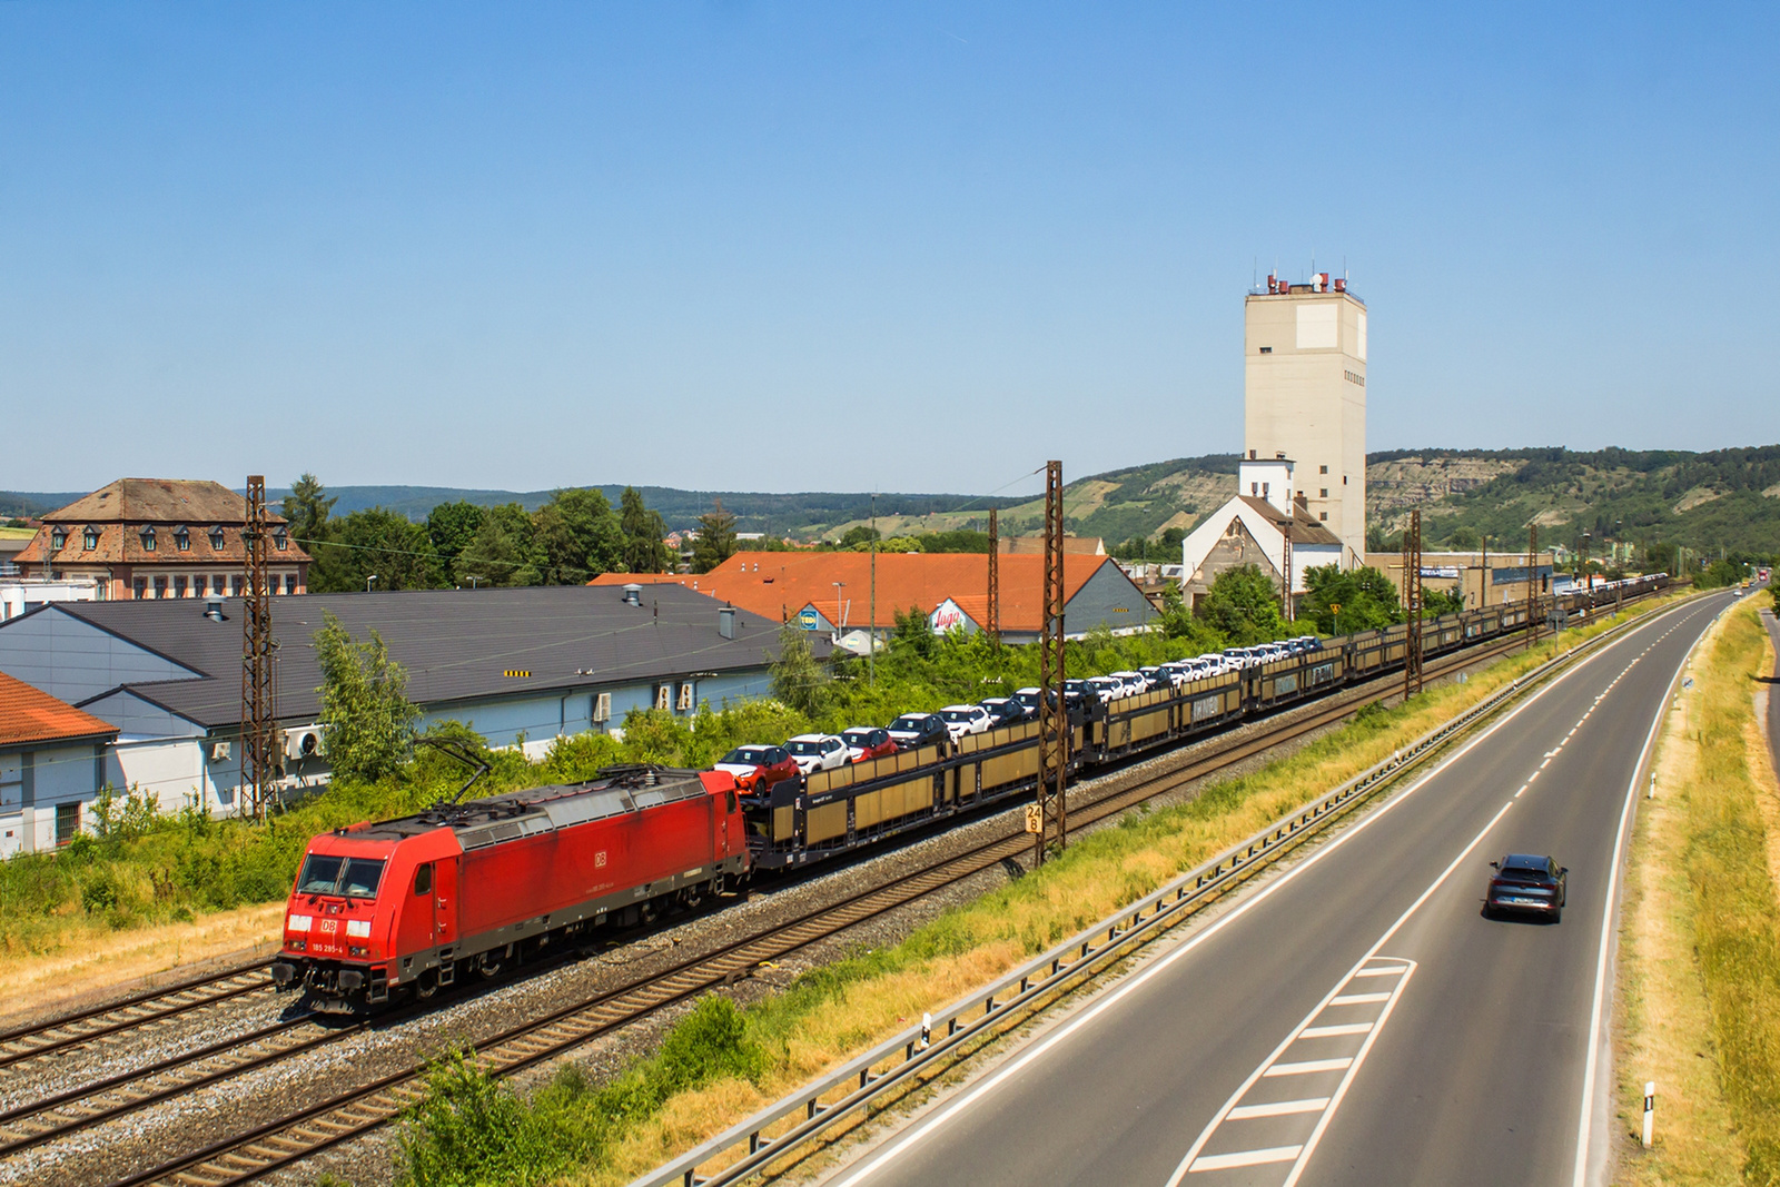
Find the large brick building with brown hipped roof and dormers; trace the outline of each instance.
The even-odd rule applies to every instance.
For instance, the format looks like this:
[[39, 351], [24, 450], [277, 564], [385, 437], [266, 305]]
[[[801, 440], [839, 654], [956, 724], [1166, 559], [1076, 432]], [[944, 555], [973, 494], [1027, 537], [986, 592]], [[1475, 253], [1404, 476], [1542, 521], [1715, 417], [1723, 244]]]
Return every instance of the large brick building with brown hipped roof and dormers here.
[[[310, 553], [269, 514], [274, 594], [308, 593]], [[239, 596], [247, 500], [221, 482], [117, 479], [43, 516], [18, 553], [27, 578], [91, 580], [101, 602]]]

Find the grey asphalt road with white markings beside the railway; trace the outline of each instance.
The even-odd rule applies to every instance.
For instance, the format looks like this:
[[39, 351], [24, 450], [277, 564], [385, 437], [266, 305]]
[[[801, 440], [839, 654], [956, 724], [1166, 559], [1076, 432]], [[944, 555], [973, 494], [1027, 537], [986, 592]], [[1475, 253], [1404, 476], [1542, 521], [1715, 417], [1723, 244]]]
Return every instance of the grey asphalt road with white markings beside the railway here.
[[[1727, 602], [1632, 628], [829, 1182], [1602, 1182], [1614, 856]], [[1570, 868], [1559, 924], [1483, 918], [1515, 851]]]

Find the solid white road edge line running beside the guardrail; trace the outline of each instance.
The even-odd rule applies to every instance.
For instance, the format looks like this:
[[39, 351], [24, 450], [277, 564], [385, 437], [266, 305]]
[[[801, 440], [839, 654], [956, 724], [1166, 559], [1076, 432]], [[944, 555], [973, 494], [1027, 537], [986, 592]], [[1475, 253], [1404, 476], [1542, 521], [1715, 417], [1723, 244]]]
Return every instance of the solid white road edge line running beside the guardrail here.
[[1604, 646], [1600, 651], [1595, 651], [1593, 655], [1584, 657], [1579, 664], [1575, 664], [1575, 666], [1568, 667], [1566, 671], [1559, 673], [1556, 680], [1552, 680], [1543, 689], [1540, 689], [1538, 692], [1534, 692], [1533, 696], [1529, 696], [1525, 701], [1522, 701], [1520, 705], [1517, 705], [1501, 721], [1497, 721], [1488, 730], [1485, 730], [1483, 733], [1479, 733], [1477, 737], [1474, 737], [1470, 742], [1467, 742], [1465, 746], [1461, 746], [1456, 753], [1447, 755], [1445, 758], [1442, 758], [1440, 763], [1433, 771], [1426, 772], [1422, 778], [1415, 779], [1410, 787], [1403, 788], [1401, 792], [1397, 792], [1396, 795], [1392, 795], [1390, 799], [1387, 799], [1374, 812], [1369, 812], [1363, 817], [1360, 817], [1356, 822], [1353, 822], [1344, 831], [1340, 831], [1333, 840], [1330, 840], [1328, 844], [1321, 845], [1308, 858], [1305, 858], [1303, 861], [1299, 861], [1298, 865], [1294, 865], [1292, 868], [1289, 868], [1285, 874], [1282, 874], [1280, 877], [1276, 877], [1271, 883], [1267, 883], [1266, 886], [1262, 886], [1251, 899], [1244, 899], [1235, 908], [1232, 908], [1228, 913], [1225, 913], [1219, 918], [1216, 918], [1209, 927], [1205, 927], [1205, 931], [1202, 931], [1202, 933], [1194, 934], [1193, 938], [1185, 940], [1173, 952], [1168, 952], [1166, 956], [1159, 957], [1157, 961], [1153, 961], [1148, 968], [1141, 970], [1139, 973], [1136, 973], [1132, 977], [1127, 977], [1118, 988], [1111, 989], [1098, 1002], [1091, 1004], [1088, 1009], [1084, 1009], [1080, 1014], [1077, 1014], [1075, 1018], [1072, 1018], [1068, 1023], [1064, 1023], [1063, 1027], [1059, 1027], [1057, 1030], [1054, 1030], [1050, 1036], [1047, 1036], [1036, 1046], [1032, 1046], [1031, 1050], [1024, 1052], [1022, 1055], [1011, 1059], [1007, 1062], [1007, 1066], [1004, 1066], [995, 1075], [988, 1077], [983, 1084], [979, 1084], [977, 1087], [970, 1089], [968, 1093], [965, 1093], [958, 1100], [943, 1105], [933, 1116], [929, 1116], [929, 1118], [926, 1118], [922, 1121], [917, 1121], [908, 1130], [908, 1134], [904, 1134], [902, 1137], [899, 1137], [897, 1141], [894, 1141], [886, 1150], [883, 1150], [881, 1153], [878, 1153], [876, 1157], [872, 1157], [870, 1160], [867, 1160], [865, 1166], [858, 1167], [856, 1171], [853, 1171], [851, 1175], [847, 1175], [846, 1178], [842, 1178], [838, 1183], [835, 1183], [835, 1187], [856, 1187], [858, 1183], [863, 1183], [867, 1178], [870, 1178], [872, 1175], [876, 1175], [879, 1169], [883, 1169], [885, 1166], [888, 1166], [895, 1159], [902, 1157], [904, 1153], [908, 1153], [910, 1150], [913, 1150], [915, 1146], [918, 1146], [922, 1141], [926, 1141], [927, 1137], [931, 1137], [934, 1132], [938, 1132], [949, 1121], [952, 1121], [961, 1112], [965, 1112], [967, 1109], [970, 1109], [975, 1102], [979, 1102], [984, 1096], [988, 1096], [990, 1093], [993, 1093], [997, 1087], [1000, 1087], [1002, 1084], [1006, 1084], [1007, 1080], [1011, 1080], [1013, 1077], [1016, 1077], [1020, 1071], [1024, 1071], [1029, 1064], [1032, 1064], [1034, 1061], [1041, 1059], [1045, 1054], [1048, 1054], [1050, 1050], [1054, 1050], [1059, 1043], [1063, 1043], [1064, 1039], [1068, 1039], [1070, 1036], [1073, 1036], [1077, 1030], [1080, 1030], [1082, 1027], [1086, 1027], [1088, 1023], [1091, 1023], [1093, 1020], [1096, 1020], [1105, 1011], [1109, 1011], [1114, 1005], [1118, 1005], [1121, 1000], [1125, 1000], [1125, 997], [1129, 997], [1130, 993], [1136, 993], [1141, 986], [1148, 984], [1150, 979], [1159, 977], [1164, 970], [1171, 968], [1175, 961], [1184, 959], [1189, 952], [1194, 952], [1202, 943], [1205, 943], [1207, 940], [1210, 940], [1212, 936], [1216, 936], [1226, 925], [1230, 925], [1232, 922], [1235, 922], [1237, 918], [1241, 918], [1242, 915], [1246, 915], [1248, 911], [1255, 909], [1258, 904], [1266, 902], [1269, 897], [1273, 897], [1273, 893], [1278, 892], [1282, 886], [1289, 884], [1292, 879], [1296, 879], [1305, 870], [1315, 867], [1317, 861], [1321, 861], [1328, 854], [1331, 854], [1337, 849], [1340, 849], [1346, 842], [1349, 842], [1355, 836], [1358, 836], [1360, 833], [1363, 833], [1374, 822], [1385, 819], [1390, 813], [1392, 808], [1396, 808], [1397, 804], [1408, 801], [1408, 797], [1413, 795], [1415, 792], [1419, 792], [1422, 787], [1426, 787], [1429, 779], [1436, 778], [1442, 771], [1445, 771], [1447, 767], [1451, 767], [1452, 763], [1456, 763], [1460, 758], [1463, 758], [1465, 755], [1468, 755], [1474, 747], [1481, 746], [1485, 740], [1488, 740], [1492, 735], [1495, 735], [1497, 730], [1501, 730], [1502, 726], [1506, 726], [1508, 723], [1511, 723], [1515, 717], [1518, 717], [1525, 710], [1529, 710], [1534, 705], [1538, 705], [1538, 701], [1547, 692], [1552, 692], [1554, 689], [1561, 687], [1574, 674], [1577, 674], [1581, 671], [1586, 671], [1600, 657], [1611, 655], [1614, 650], [1618, 650], [1622, 644], [1625, 644], [1629, 639], [1636, 637], [1639, 632], [1643, 632], [1646, 626], [1654, 625], [1661, 618], [1664, 618], [1668, 614], [1673, 614], [1677, 610], [1686, 610], [1689, 605], [1693, 605], [1693, 603], [1686, 603], [1684, 602], [1684, 603], [1675, 605], [1670, 610], [1657, 610], [1645, 623], [1639, 623], [1638, 626], [1634, 626], [1627, 634], [1620, 635], [1618, 639], [1614, 639], [1613, 642], [1609, 642], [1607, 646]]

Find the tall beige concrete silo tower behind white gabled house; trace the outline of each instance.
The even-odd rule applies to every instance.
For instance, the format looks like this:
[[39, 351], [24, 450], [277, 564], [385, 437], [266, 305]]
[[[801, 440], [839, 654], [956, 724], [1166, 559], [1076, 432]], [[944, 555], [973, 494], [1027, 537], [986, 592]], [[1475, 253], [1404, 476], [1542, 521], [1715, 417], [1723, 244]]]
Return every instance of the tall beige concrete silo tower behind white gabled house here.
[[1365, 555], [1365, 306], [1335, 292], [1262, 294], [1248, 297], [1244, 322], [1244, 456], [1283, 452], [1298, 463], [1294, 486], [1310, 514], [1342, 537], [1351, 552], [1346, 562], [1358, 564]]

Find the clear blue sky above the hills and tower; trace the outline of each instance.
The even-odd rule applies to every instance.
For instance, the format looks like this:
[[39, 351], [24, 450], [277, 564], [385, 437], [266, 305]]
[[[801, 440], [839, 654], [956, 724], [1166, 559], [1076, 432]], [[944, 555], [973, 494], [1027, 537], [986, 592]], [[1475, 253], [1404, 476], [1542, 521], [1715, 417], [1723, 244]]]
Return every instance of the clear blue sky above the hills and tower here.
[[1230, 452], [1242, 292], [1312, 253], [1371, 306], [1374, 450], [1773, 443], [1776, 28], [0, 4], [0, 488], [981, 493]]

